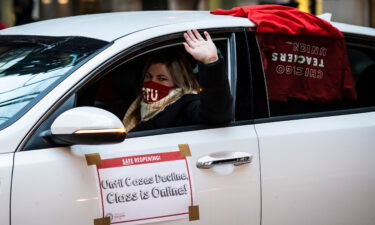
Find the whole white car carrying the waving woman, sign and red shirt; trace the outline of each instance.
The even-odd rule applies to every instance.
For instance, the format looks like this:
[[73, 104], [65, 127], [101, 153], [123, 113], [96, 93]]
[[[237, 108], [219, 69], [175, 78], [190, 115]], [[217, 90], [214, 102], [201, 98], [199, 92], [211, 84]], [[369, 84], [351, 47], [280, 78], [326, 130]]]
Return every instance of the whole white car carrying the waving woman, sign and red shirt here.
[[[346, 36], [360, 97], [293, 109], [268, 101], [246, 18], [127, 12], [0, 31], [0, 224], [94, 224], [103, 212], [85, 156], [180, 144], [191, 151], [199, 220], [158, 224], [375, 224], [375, 30], [333, 25]], [[144, 58], [181, 48], [188, 29], [207, 30], [225, 58], [234, 120], [125, 138], [121, 119]]]

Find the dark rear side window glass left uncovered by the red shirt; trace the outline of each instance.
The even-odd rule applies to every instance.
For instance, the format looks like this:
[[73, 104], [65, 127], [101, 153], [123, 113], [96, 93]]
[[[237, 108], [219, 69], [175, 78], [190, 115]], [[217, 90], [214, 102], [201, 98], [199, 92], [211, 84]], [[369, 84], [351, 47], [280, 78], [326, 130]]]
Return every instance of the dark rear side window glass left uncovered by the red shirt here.
[[[347, 54], [357, 98], [343, 98], [330, 102], [315, 102], [299, 98], [288, 98], [286, 101], [261, 100], [259, 108], [264, 109], [264, 102], [266, 102], [268, 104], [269, 115], [258, 113], [256, 118], [320, 113], [374, 106], [375, 92], [372, 88], [375, 83], [375, 76], [373, 76], [375, 72], [374, 42], [370, 40], [364, 41], [361, 39], [361, 41], [358, 41], [358, 39], [355, 38], [347, 38]], [[261, 87], [264, 85], [266, 88], [265, 90], [254, 89], [255, 99], [257, 99], [257, 97], [262, 98], [262, 96], [268, 96], [270, 89], [275, 88], [267, 86], [267, 74], [264, 74], [264, 71], [261, 71], [260, 74], [254, 74], [253, 77], [259, 80], [263, 78], [265, 82], [263, 84], [258, 83], [258, 85]]]

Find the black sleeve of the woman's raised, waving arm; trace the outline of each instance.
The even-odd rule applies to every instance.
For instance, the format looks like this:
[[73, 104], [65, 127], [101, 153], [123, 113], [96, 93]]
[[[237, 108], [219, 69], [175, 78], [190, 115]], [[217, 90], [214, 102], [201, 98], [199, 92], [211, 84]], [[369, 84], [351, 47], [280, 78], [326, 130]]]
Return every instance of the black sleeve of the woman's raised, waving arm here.
[[191, 120], [205, 124], [230, 122], [233, 118], [232, 96], [224, 59], [210, 64], [198, 63], [200, 101], [192, 102], [186, 112]]

